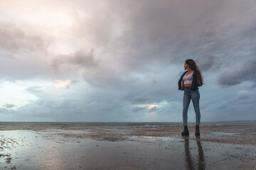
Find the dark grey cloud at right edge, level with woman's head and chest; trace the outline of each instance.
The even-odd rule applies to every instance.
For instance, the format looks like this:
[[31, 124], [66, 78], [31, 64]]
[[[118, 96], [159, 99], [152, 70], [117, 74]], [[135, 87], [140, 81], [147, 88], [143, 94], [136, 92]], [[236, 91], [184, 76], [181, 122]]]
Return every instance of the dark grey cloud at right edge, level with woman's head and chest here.
[[256, 67], [256, 59], [249, 60], [240, 67], [235, 67], [231, 70], [226, 70], [218, 77], [218, 84], [222, 86], [234, 86], [243, 81], [256, 81], [256, 74], [254, 72]]

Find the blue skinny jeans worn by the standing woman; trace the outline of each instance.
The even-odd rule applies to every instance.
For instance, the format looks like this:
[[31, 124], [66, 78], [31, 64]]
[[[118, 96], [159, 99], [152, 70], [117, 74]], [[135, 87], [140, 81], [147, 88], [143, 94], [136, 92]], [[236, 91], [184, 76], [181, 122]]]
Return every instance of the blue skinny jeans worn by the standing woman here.
[[201, 113], [199, 108], [199, 91], [191, 89], [184, 89], [183, 95], [183, 125], [188, 125], [188, 106], [192, 99], [193, 107], [196, 112], [196, 125], [200, 125]]

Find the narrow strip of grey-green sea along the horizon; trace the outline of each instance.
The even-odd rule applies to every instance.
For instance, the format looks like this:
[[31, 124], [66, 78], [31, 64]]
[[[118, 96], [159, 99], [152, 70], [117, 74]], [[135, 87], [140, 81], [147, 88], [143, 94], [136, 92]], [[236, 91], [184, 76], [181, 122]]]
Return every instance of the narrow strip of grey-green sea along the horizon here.
[[[195, 125], [188, 123], [188, 125]], [[204, 122], [204, 126], [212, 125], [256, 125], [256, 120]], [[0, 122], [0, 130], [82, 130], [92, 128], [127, 129], [127, 128], [168, 128], [182, 126], [182, 123], [159, 122]]]

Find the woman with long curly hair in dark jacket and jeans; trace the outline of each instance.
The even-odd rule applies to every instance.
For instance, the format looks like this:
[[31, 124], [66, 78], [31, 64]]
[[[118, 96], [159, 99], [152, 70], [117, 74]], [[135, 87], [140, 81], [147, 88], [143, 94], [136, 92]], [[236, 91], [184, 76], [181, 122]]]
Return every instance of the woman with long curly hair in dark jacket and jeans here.
[[193, 107], [196, 112], [196, 133], [195, 135], [200, 135], [199, 125], [201, 120], [201, 113], [199, 109], [199, 98], [200, 94], [198, 91], [198, 86], [203, 85], [203, 77], [201, 75], [200, 69], [192, 59], [186, 60], [184, 64], [184, 69], [187, 69], [181, 75], [181, 79], [178, 80], [178, 89], [184, 91], [183, 94], [183, 125], [184, 130], [181, 135], [189, 135], [188, 132], [188, 106], [192, 99]]

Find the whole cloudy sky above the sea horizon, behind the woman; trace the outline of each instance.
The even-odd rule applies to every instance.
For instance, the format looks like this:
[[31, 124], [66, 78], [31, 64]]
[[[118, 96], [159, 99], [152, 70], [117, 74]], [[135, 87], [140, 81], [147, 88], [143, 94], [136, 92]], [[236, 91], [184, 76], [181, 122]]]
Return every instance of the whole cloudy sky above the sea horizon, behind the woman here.
[[202, 121], [256, 120], [255, 0], [1, 0], [0, 121], [181, 122], [188, 58]]

